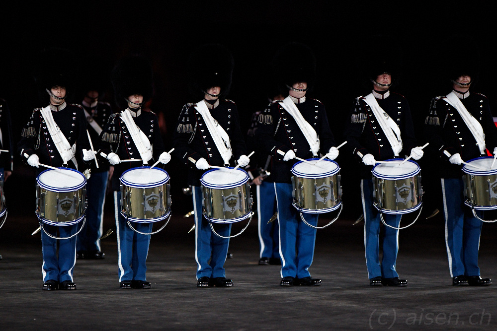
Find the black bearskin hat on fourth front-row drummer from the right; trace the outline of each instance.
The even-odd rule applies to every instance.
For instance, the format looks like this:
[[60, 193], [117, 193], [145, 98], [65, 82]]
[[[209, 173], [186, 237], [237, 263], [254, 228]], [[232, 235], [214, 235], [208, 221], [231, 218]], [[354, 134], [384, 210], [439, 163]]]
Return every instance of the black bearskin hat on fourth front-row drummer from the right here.
[[230, 92], [235, 61], [231, 52], [219, 44], [206, 44], [197, 48], [188, 59], [189, 92], [195, 101], [203, 99], [205, 92], [221, 87], [221, 95]]

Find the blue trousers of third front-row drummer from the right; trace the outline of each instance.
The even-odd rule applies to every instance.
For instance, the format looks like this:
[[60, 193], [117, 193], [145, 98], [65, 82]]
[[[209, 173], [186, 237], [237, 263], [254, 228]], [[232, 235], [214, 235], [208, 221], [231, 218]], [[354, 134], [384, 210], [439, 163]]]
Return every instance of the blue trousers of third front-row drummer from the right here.
[[[273, 183], [278, 207], [279, 250], [281, 277], [309, 277], [309, 267], [314, 258], [316, 229], [305, 224], [299, 211], [292, 206], [292, 184]], [[318, 224], [317, 214], [303, 213], [305, 220]]]

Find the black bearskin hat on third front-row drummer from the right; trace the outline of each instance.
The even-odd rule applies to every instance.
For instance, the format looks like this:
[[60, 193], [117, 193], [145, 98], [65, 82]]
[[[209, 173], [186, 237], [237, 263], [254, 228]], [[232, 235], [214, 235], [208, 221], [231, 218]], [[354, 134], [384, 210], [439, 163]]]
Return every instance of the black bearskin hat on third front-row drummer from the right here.
[[283, 95], [288, 95], [288, 86], [298, 82], [306, 82], [311, 90], [316, 84], [316, 57], [307, 45], [291, 42], [276, 51], [272, 71]]

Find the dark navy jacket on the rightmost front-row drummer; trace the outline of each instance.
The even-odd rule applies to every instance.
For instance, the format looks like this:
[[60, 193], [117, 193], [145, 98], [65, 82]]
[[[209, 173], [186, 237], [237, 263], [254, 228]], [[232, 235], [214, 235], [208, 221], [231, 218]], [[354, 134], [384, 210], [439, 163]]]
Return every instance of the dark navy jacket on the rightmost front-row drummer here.
[[[454, 93], [468, 112], [482, 125], [485, 145], [493, 153], [497, 146], [497, 128], [487, 97], [469, 91], [464, 94], [456, 91]], [[424, 128], [429, 139], [430, 150], [436, 153], [433, 161], [437, 163], [440, 177], [460, 178], [462, 175], [462, 166], [450, 163], [449, 158], [443, 154], [444, 150], [451, 155], [459, 153], [464, 161], [486, 155], [480, 153], [475, 137], [459, 112], [446, 102], [445, 96], [432, 99]]]

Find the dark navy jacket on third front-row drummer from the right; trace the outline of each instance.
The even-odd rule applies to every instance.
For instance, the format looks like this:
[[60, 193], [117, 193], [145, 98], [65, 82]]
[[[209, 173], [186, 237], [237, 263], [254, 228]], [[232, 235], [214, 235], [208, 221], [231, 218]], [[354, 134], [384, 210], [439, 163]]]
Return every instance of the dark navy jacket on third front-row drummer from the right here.
[[[304, 98], [296, 101], [303, 101]], [[270, 178], [267, 181], [275, 183], [291, 183], [292, 166], [298, 160], [283, 161], [283, 155], [276, 150], [287, 152], [293, 149], [295, 155], [302, 159], [314, 158], [311, 147], [297, 122], [280, 104], [280, 101], [271, 103], [260, 115], [261, 124], [255, 135], [265, 153], [272, 155], [269, 169]], [[325, 106], [318, 100], [305, 98], [304, 102], [295, 104], [304, 119], [314, 128], [320, 140], [320, 150], [323, 155], [335, 146], [333, 134], [328, 124]], [[266, 154], [267, 155], [267, 154]]]

